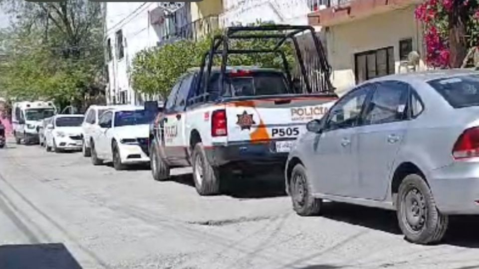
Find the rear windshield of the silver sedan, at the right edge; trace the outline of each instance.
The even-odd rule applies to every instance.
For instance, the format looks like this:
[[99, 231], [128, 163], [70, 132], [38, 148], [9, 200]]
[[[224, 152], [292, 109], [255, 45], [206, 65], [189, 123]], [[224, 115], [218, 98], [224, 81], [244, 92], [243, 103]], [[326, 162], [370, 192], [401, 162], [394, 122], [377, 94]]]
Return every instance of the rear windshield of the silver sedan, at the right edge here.
[[479, 75], [463, 75], [428, 82], [454, 108], [479, 106]]

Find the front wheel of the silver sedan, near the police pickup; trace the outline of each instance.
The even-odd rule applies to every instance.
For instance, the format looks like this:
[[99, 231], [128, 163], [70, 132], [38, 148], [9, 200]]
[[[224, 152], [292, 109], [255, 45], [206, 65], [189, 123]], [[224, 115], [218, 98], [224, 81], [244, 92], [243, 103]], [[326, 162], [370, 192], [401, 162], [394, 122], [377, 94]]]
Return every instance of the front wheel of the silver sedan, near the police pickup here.
[[312, 216], [321, 212], [322, 200], [312, 196], [306, 168], [300, 163], [291, 172], [290, 195], [293, 209], [298, 215]]

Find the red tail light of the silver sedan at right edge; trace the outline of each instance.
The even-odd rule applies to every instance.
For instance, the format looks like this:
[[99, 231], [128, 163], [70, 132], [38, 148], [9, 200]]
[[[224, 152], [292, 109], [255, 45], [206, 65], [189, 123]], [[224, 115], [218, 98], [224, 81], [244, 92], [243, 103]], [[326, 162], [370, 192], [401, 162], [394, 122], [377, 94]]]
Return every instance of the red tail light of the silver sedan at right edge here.
[[479, 127], [466, 129], [454, 144], [453, 157], [465, 159], [479, 157]]

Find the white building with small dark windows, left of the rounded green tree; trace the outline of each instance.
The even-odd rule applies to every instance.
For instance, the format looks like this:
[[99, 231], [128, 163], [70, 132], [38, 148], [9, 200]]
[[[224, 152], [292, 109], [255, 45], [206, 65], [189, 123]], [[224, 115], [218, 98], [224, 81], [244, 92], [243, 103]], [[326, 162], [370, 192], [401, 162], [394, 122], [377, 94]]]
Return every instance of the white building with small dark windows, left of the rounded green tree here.
[[107, 103], [141, 105], [148, 97], [135, 93], [131, 87], [132, 61], [136, 53], [158, 46], [171, 37], [175, 27], [189, 23], [189, 6], [165, 9], [160, 2], [105, 5]]

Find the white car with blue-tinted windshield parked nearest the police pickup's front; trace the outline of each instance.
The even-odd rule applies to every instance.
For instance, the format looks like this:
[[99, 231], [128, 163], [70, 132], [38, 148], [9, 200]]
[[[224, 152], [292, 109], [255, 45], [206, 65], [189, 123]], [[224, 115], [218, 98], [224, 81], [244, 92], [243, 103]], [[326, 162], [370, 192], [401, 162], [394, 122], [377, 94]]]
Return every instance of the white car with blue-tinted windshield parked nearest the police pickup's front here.
[[113, 161], [116, 170], [127, 164], [148, 163], [148, 131], [155, 113], [144, 107], [121, 106], [100, 116], [90, 137], [91, 161]]

